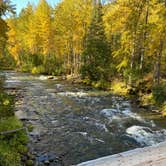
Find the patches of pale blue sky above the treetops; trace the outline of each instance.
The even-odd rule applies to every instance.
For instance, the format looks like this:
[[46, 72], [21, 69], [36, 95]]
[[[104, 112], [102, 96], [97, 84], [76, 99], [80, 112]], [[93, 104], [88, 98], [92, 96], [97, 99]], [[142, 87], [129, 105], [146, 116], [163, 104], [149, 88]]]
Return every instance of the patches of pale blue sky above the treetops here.
[[[36, 5], [39, 2], [39, 0], [11, 0], [11, 3], [16, 5], [16, 12], [17, 12], [17, 14], [19, 14], [19, 12], [21, 11], [22, 8], [26, 7], [28, 2]], [[47, 0], [47, 2], [51, 6], [54, 6], [58, 2], [60, 2], [60, 0]]]

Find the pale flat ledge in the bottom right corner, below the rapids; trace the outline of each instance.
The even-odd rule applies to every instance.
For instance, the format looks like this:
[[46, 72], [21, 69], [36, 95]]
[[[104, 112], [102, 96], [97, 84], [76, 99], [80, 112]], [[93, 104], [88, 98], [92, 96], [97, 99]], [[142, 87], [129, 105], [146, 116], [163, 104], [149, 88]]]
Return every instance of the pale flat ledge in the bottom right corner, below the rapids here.
[[77, 166], [165, 166], [166, 142], [87, 161]]

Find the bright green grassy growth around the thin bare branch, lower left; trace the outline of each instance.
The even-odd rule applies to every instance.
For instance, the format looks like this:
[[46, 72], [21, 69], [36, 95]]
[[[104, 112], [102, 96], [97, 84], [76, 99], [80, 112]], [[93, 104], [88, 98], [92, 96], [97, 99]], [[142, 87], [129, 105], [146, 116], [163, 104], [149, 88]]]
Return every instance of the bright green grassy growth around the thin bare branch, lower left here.
[[[14, 130], [22, 127], [22, 123], [14, 116], [1, 118], [0, 132]], [[27, 153], [27, 135], [25, 131], [0, 136], [0, 165], [21, 166], [21, 156]]]

